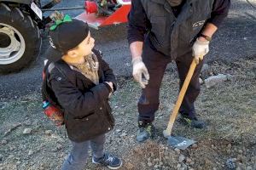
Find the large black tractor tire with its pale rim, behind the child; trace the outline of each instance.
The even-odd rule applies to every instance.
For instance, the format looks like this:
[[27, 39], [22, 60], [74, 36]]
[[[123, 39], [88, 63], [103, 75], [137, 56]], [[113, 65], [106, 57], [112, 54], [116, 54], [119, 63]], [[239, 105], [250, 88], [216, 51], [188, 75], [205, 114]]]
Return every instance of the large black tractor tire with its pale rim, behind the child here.
[[0, 3], [0, 72], [20, 71], [37, 59], [42, 38], [35, 21], [20, 8]]

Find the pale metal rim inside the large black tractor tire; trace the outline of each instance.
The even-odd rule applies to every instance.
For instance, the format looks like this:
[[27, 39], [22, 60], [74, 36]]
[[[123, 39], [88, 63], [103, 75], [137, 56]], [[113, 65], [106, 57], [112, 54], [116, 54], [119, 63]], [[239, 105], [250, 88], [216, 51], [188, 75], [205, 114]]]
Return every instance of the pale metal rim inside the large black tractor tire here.
[[[20, 31], [13, 26], [0, 23], [0, 65], [15, 63], [25, 52], [26, 44]], [[2, 39], [2, 40], [3, 40]]]

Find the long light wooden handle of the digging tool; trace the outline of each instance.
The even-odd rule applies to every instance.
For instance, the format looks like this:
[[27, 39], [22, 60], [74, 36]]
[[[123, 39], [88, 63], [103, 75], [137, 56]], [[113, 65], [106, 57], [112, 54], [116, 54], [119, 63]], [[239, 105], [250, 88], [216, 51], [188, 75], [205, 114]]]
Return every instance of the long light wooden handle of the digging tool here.
[[166, 128], [166, 133], [168, 135], [171, 135], [173, 124], [174, 124], [175, 119], [177, 117], [177, 113], [178, 113], [178, 110], [180, 108], [180, 105], [183, 102], [183, 98], [184, 98], [184, 95], [187, 91], [187, 88], [189, 87], [189, 82], [190, 82], [190, 80], [191, 80], [191, 78], [194, 74], [195, 66], [196, 66], [196, 62], [195, 62], [195, 59], [193, 59], [191, 65], [190, 65], [190, 68], [189, 68], [188, 75], [187, 75], [185, 81], [183, 82], [183, 87], [182, 87], [182, 89], [180, 90], [180, 92], [178, 94], [176, 105], [174, 106], [174, 109], [172, 111], [172, 115], [170, 116], [168, 126]]

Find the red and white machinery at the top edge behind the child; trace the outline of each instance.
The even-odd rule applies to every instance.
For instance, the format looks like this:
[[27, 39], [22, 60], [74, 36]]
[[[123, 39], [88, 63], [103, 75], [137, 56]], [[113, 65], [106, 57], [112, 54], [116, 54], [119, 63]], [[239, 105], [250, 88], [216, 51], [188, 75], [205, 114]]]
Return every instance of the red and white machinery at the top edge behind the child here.
[[99, 15], [98, 4], [96, 1], [85, 1], [85, 12], [79, 14], [76, 19], [87, 22], [90, 27], [99, 29], [102, 26], [117, 25], [127, 22], [127, 14], [131, 8], [131, 0], [116, 0], [113, 1], [119, 5], [112, 14]]

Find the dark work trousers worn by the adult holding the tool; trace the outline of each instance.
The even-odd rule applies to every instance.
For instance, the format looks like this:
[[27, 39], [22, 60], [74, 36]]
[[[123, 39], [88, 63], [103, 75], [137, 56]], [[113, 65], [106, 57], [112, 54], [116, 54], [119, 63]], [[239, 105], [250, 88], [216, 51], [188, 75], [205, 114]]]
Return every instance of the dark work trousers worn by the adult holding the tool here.
[[[180, 79], [180, 88], [182, 88], [183, 81], [185, 80], [189, 71], [189, 66], [194, 57], [192, 51], [188, 54], [178, 56], [176, 59], [178, 76]], [[146, 88], [143, 88], [142, 95], [138, 101], [138, 121], [139, 122], [153, 122], [154, 113], [158, 110], [160, 100], [160, 85], [162, 78], [166, 71], [166, 65], [172, 61], [170, 56], [166, 56], [157, 52], [150, 42], [145, 42], [143, 46], [143, 62], [148, 68], [149, 81]], [[187, 115], [191, 118], [195, 117], [194, 102], [200, 94], [199, 76], [203, 61], [196, 66], [195, 72], [189, 83], [189, 88], [183, 98], [183, 103], [179, 110], [180, 113]], [[170, 87], [171, 88], [171, 87]], [[170, 94], [172, 95], [172, 94]]]

